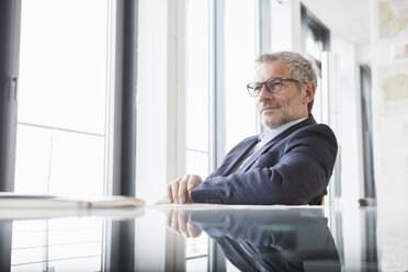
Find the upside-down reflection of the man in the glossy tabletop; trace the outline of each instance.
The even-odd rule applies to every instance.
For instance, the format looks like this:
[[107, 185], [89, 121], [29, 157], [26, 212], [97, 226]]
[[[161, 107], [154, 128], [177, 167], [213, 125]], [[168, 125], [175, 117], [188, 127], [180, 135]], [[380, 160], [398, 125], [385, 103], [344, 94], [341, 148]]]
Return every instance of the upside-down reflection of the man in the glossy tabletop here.
[[208, 234], [241, 271], [341, 271], [320, 208], [183, 211], [168, 226], [184, 237]]

